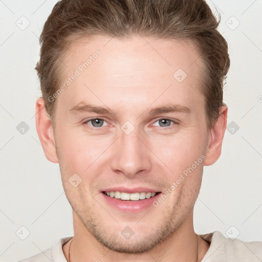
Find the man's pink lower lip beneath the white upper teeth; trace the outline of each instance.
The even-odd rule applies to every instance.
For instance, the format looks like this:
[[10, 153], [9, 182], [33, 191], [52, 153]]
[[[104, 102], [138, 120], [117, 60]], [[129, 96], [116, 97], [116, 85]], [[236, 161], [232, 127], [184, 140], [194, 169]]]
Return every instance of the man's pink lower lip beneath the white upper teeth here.
[[108, 197], [104, 193], [101, 193], [104, 200], [107, 202], [108, 205], [126, 213], [139, 213], [151, 206], [152, 203], [158, 199], [161, 193], [156, 194], [154, 197], [150, 199], [143, 199], [137, 201], [126, 201], [121, 199], [115, 199]]

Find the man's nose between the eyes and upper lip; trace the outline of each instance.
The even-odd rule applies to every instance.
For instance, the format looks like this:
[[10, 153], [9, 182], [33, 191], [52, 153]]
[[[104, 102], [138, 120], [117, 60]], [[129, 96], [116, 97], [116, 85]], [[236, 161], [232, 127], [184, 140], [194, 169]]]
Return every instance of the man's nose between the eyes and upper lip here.
[[114, 143], [115, 154], [111, 161], [112, 170], [128, 178], [149, 171], [152, 166], [152, 154], [147, 144], [148, 141], [139, 134], [136, 128], [129, 135], [120, 130], [120, 137]]

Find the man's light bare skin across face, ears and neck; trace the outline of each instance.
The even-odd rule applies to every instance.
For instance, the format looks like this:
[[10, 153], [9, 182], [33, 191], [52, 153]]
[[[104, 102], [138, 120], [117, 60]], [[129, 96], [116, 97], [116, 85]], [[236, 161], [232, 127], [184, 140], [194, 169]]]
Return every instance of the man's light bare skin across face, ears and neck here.
[[[44, 101], [36, 102], [41, 145], [47, 159], [59, 163], [73, 209], [71, 262], [195, 262], [197, 257], [201, 261], [209, 244], [194, 232], [193, 206], [204, 165], [212, 165], [221, 155], [227, 107], [221, 107], [208, 129], [200, 91], [203, 61], [189, 41], [110, 39], [81, 40], [62, 57], [66, 80], [97, 49], [101, 51], [56, 98], [55, 130]], [[187, 74], [182, 82], [173, 77], [178, 69]], [[114, 114], [70, 111], [80, 102], [109, 108]], [[190, 112], [149, 114], [152, 108], [169, 104]], [[104, 120], [102, 127], [86, 122], [90, 118]], [[174, 122], [163, 124], [163, 119]], [[121, 129], [126, 121], [134, 126], [128, 135]], [[202, 155], [205, 160], [158, 207], [126, 213], [104, 200], [101, 190], [118, 186], [164, 193]], [[74, 173], [82, 180], [76, 187], [69, 183]], [[126, 227], [134, 232], [129, 239], [121, 234]], [[63, 246], [68, 261], [70, 243]]]

